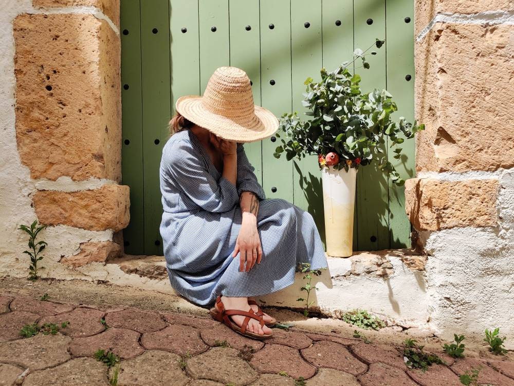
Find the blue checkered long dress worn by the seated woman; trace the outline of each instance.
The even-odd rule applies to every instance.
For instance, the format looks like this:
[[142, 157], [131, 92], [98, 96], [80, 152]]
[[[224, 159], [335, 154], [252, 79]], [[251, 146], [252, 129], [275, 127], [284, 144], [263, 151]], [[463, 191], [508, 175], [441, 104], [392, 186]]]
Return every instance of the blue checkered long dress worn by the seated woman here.
[[[243, 145], [237, 145], [237, 184], [214, 167], [189, 130], [164, 145], [160, 164], [160, 234], [172, 287], [191, 302], [209, 305], [219, 294], [259, 296], [291, 285], [298, 264], [327, 267], [313, 217], [282, 199], [266, 200]], [[257, 226], [263, 257], [249, 272], [231, 257], [241, 228], [241, 192], [260, 201]]]

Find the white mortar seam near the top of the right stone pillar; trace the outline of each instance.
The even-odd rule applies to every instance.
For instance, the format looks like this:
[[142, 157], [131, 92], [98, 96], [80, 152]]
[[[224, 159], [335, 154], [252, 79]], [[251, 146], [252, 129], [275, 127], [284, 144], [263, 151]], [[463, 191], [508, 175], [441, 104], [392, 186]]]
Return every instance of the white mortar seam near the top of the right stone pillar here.
[[427, 33], [432, 29], [436, 23], [451, 23], [451, 24], [512, 24], [514, 25], [514, 10], [511, 11], [484, 11], [479, 13], [438, 13], [428, 23], [428, 25], [421, 30], [417, 36], [416, 41], [423, 40]]

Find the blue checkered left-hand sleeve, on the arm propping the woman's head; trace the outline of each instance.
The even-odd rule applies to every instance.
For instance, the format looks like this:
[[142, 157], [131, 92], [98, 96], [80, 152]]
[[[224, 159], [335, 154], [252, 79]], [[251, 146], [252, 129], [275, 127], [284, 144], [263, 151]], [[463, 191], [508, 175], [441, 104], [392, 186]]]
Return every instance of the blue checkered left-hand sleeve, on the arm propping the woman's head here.
[[236, 186], [223, 176], [216, 181], [185, 142], [163, 154], [161, 167], [189, 200], [208, 212], [227, 212], [239, 202]]

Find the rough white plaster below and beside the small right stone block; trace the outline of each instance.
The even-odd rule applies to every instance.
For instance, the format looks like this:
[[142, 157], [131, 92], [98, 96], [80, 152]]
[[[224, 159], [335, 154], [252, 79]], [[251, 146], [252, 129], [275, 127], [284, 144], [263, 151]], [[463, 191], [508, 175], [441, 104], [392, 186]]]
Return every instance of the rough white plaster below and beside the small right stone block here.
[[441, 336], [500, 327], [514, 348], [514, 170], [499, 179], [499, 226], [429, 234], [426, 277], [431, 326]]

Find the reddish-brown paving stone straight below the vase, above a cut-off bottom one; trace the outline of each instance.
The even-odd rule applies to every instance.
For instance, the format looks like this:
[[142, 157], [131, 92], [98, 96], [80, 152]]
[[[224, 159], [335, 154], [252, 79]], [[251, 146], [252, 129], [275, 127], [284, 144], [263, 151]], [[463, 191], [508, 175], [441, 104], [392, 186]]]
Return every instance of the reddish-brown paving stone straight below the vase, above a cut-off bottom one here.
[[368, 370], [368, 366], [355, 358], [346, 347], [339, 343], [319, 341], [301, 350], [302, 356], [316, 367], [329, 367], [359, 375]]

